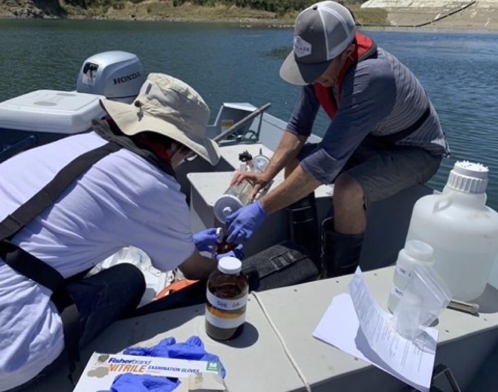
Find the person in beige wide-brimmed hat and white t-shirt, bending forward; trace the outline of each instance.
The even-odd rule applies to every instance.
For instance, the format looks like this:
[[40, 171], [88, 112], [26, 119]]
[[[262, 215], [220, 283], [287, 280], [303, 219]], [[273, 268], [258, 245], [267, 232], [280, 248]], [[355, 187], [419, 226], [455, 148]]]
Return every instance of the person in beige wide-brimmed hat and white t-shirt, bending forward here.
[[66, 355], [77, 380], [79, 346], [133, 312], [144, 294], [144, 276], [131, 264], [83, 278], [123, 247], [189, 279], [216, 267], [199, 253], [216, 243], [216, 230], [192, 233], [175, 177], [188, 156], [212, 165], [220, 158], [205, 135], [202, 97], [151, 74], [133, 104], [101, 104], [109, 117], [94, 121], [92, 132], [0, 164], [1, 391], [25, 390]]

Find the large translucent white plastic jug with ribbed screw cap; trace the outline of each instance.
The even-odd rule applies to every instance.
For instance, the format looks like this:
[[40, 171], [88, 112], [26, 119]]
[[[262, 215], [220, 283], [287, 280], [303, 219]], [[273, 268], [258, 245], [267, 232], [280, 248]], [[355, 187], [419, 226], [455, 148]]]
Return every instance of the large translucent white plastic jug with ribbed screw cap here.
[[457, 300], [478, 298], [498, 253], [498, 213], [485, 206], [488, 169], [456, 162], [442, 193], [424, 196], [413, 208], [407, 241], [434, 249], [434, 268]]

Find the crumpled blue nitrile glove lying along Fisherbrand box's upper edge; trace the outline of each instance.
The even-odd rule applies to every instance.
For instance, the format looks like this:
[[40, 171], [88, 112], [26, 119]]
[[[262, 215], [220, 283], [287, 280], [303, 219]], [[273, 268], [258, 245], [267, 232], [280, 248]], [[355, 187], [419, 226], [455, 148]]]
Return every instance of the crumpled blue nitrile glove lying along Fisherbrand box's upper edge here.
[[226, 376], [225, 368], [218, 355], [206, 353], [199, 336], [191, 336], [184, 343], [177, 343], [174, 337], [167, 337], [153, 347], [131, 347], [126, 349], [123, 354], [219, 362], [220, 374], [223, 378]]

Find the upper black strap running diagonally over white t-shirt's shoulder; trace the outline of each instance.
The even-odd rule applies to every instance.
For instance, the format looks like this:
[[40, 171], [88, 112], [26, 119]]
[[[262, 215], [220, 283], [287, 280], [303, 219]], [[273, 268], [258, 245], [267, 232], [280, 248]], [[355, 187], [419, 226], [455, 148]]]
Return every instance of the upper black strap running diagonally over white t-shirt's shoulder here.
[[54, 204], [64, 189], [92, 164], [121, 148], [122, 147], [116, 143], [108, 142], [69, 162], [69, 164], [57, 173], [51, 182], [46, 184], [30, 200], [17, 208], [17, 210], [0, 223], [0, 240], [6, 238], [11, 239], [19, 230], [30, 223], [31, 220]]

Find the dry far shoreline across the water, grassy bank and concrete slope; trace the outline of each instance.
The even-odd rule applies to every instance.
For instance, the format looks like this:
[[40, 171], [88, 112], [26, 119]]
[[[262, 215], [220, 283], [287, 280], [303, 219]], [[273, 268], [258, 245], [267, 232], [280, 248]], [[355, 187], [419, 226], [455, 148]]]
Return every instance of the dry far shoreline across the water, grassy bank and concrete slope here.
[[[22, 3], [22, 5], [21, 5]], [[59, 8], [36, 6], [31, 0], [19, 0], [16, 7], [0, 4], [0, 19], [59, 19], [59, 20], [104, 20], [128, 22], [192, 22], [192, 23], [220, 23], [232, 24], [240, 27], [269, 27], [293, 28], [298, 11], [291, 11], [283, 15], [274, 12], [240, 8], [234, 5], [215, 3], [214, 6], [198, 6], [183, 3], [174, 6], [173, 1], [160, 2], [147, 0], [143, 3], [130, 5], [128, 2], [123, 8], [94, 7], [88, 9], [68, 6]], [[495, 33], [498, 32], [498, 12], [487, 13], [475, 18], [474, 14], [466, 14], [467, 10], [457, 17], [444, 20], [434, 20], [441, 15], [440, 9], [365, 9], [358, 5], [351, 5], [358, 20], [357, 26], [361, 30], [374, 31], [403, 31], [403, 32], [466, 32], [466, 33]], [[471, 10], [468, 10], [470, 12]], [[479, 10], [482, 12], [483, 10]], [[496, 10], [493, 10], [496, 11]], [[465, 13], [465, 14], [464, 14]], [[420, 24], [423, 23], [422, 26]]]

